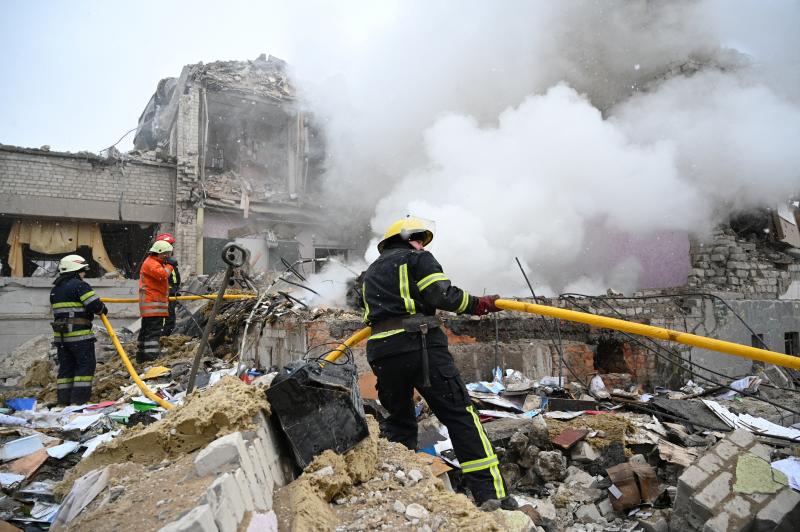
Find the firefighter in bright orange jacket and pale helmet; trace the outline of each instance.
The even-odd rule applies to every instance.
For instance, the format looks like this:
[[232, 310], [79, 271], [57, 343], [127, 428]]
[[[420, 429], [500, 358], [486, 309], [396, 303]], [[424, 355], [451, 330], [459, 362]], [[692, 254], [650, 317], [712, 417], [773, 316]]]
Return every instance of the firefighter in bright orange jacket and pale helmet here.
[[155, 360], [161, 352], [158, 340], [169, 317], [169, 270], [165, 262], [171, 252], [172, 245], [168, 242], [155, 242], [139, 271], [139, 314], [142, 317], [136, 353], [139, 363]]

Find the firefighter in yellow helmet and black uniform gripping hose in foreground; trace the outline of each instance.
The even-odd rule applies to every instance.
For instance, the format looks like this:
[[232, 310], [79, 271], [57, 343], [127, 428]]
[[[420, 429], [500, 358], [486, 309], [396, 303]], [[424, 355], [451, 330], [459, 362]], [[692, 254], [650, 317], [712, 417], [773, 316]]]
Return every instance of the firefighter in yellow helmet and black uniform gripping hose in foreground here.
[[[389, 412], [381, 435], [415, 449], [416, 388], [446, 427], [477, 505], [492, 499], [515, 506], [506, 493], [499, 461], [447, 349], [436, 309], [481, 316], [497, 312], [497, 296], [475, 297], [450, 284], [425, 251], [433, 225], [407, 217], [392, 224], [378, 244], [380, 257], [364, 275], [364, 321], [372, 327], [367, 360], [378, 380], [378, 398]], [[490, 506], [490, 503], [486, 506]]]

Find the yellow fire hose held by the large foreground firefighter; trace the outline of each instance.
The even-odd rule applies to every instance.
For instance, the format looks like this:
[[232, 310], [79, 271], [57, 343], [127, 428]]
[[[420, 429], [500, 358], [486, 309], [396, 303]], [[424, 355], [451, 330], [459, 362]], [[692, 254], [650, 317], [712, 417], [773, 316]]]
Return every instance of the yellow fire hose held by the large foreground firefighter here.
[[[652, 325], [644, 325], [642, 323], [634, 323], [616, 318], [597, 316], [595, 314], [588, 314], [586, 312], [577, 312], [574, 310], [566, 310], [547, 305], [536, 305], [534, 303], [523, 303], [521, 301], [511, 301], [509, 299], [498, 299], [495, 301], [495, 305], [503, 310], [528, 312], [530, 314], [541, 314], [543, 316], [550, 316], [552, 318], [576, 321], [578, 323], [585, 323], [594, 327], [615, 329], [617, 331], [638, 334], [640, 336], [648, 336], [650, 338], [656, 338], [659, 340], [678, 342], [694, 347], [700, 347], [702, 349], [717, 351], [726, 355], [749, 358], [750, 360], [758, 360], [768, 364], [782, 366], [784, 368], [800, 370], [800, 357], [776, 353], [774, 351], [759, 349], [757, 347], [749, 347], [734, 342], [716, 340], [714, 338], [707, 338], [705, 336], [699, 336], [696, 334], [673, 331], [670, 329], [653, 327]], [[329, 362], [335, 361], [347, 348], [357, 345], [365, 338], [368, 338], [371, 333], [372, 329], [369, 327], [365, 327], [359, 331], [356, 331], [353, 336], [345, 340], [344, 343], [339, 345], [339, 347], [337, 347], [335, 350], [328, 353], [328, 355], [325, 356], [325, 360]]]

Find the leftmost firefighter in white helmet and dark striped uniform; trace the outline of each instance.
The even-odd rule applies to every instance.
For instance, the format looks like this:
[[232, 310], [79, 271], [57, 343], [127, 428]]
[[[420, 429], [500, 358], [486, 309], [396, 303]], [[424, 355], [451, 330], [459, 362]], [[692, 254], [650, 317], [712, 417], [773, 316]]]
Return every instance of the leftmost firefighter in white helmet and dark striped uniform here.
[[84, 404], [92, 395], [95, 337], [92, 319], [108, 309], [83, 280], [89, 264], [80, 255], [67, 255], [58, 263], [59, 276], [50, 291], [53, 309], [53, 343], [58, 353], [58, 404]]

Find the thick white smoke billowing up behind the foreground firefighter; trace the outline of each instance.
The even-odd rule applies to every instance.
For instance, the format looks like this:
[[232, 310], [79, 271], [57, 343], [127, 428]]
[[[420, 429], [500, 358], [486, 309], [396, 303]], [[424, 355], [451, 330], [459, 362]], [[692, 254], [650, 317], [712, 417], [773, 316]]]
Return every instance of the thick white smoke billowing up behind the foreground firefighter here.
[[313, 28], [292, 55], [328, 196], [374, 234], [436, 220], [432, 251], [474, 293], [524, 293], [515, 256], [544, 292], [680, 284], [687, 233], [800, 188], [797, 4], [403, 2], [378, 20], [356, 42]]

